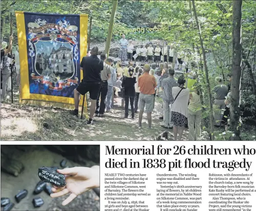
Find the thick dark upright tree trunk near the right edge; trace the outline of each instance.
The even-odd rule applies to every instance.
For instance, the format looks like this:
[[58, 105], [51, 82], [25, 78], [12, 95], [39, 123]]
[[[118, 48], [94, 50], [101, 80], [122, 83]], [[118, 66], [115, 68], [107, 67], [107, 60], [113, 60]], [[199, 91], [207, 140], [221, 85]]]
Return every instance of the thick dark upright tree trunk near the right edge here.
[[232, 80], [230, 91], [230, 129], [231, 140], [240, 138], [240, 86], [242, 61], [242, 0], [233, 0], [232, 13]]

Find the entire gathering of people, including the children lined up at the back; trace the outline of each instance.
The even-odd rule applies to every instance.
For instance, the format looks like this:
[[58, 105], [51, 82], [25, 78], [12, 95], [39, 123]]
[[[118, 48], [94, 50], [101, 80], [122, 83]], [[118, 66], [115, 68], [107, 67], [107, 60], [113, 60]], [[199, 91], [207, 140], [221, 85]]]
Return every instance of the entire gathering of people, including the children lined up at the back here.
[[[7, 78], [10, 76], [10, 68], [5, 64], [11, 48], [12, 36], [8, 48], [1, 44], [1, 82], [3, 80], [1, 98], [5, 96]], [[74, 89], [75, 109], [71, 113], [78, 115], [80, 95], [89, 92], [91, 106], [88, 124], [94, 124], [94, 117], [103, 118], [105, 112], [111, 112], [115, 99], [121, 98], [124, 118], [129, 118], [129, 110], [131, 110], [131, 118], [135, 119], [135, 113], [139, 111], [138, 127], [142, 127], [142, 116], [145, 111], [148, 128], [152, 128], [155, 99], [161, 97], [162, 109], [159, 110], [162, 114], [159, 119], [163, 120], [161, 127], [173, 128], [175, 140], [181, 140], [184, 129], [188, 127], [189, 140], [200, 140], [202, 104], [198, 76], [193, 72], [188, 72], [188, 66], [186, 66], [183, 74], [178, 78], [175, 77], [174, 50], [171, 46], [168, 64], [166, 61], [168, 50], [165, 52], [165, 48], [167, 49], [166, 44], [162, 50], [159, 44], [155, 49], [152, 44], [147, 49], [145, 45], [142, 45], [140, 49], [136, 49], [137, 55], [133, 57], [134, 46], [123, 36], [120, 40], [120, 61], [116, 64], [111, 58], [106, 58], [105, 53], [98, 58], [98, 48], [96, 46], [92, 48], [91, 55], [83, 57], [80, 64], [83, 79]], [[160, 58], [160, 52], [162, 52], [162, 58]], [[155, 60], [153, 53], [155, 53]], [[180, 70], [180, 65], [186, 60], [184, 52], [178, 55], [176, 70]], [[145, 63], [145, 56], [147, 56], [147, 63]], [[18, 58], [18, 52], [15, 52], [15, 57]], [[129, 60], [128, 65], [123, 63], [125, 60]], [[19, 59], [17, 59], [16, 68], [19, 71]], [[227, 126], [230, 87], [223, 84], [221, 77], [217, 77], [216, 82], [217, 85], [213, 89], [214, 99], [212, 99], [215, 125], [217, 127]]]

